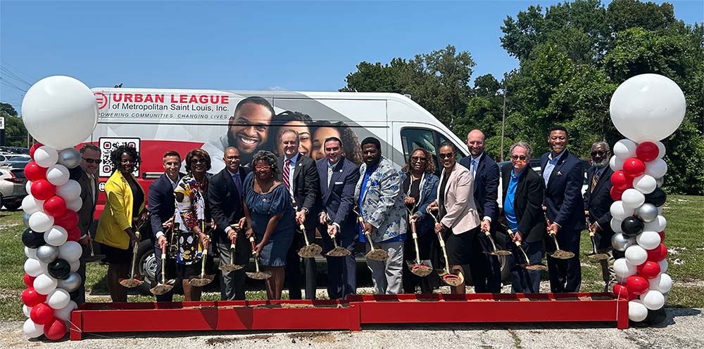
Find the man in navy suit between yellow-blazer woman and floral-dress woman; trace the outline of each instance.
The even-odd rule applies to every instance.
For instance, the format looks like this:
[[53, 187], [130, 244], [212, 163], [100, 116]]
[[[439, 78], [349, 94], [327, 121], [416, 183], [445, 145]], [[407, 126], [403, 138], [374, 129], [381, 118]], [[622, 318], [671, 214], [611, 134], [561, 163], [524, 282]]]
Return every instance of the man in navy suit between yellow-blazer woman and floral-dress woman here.
[[[161, 248], [167, 247], [171, 242], [173, 233], [173, 216], [176, 211], [174, 190], [183, 176], [181, 169], [181, 155], [170, 150], [163, 156], [164, 173], [149, 185], [149, 224], [151, 224], [152, 239], [154, 242], [154, 256], [156, 257], [156, 281], [161, 279], [161, 268], [166, 268], [166, 278], [176, 276], [176, 264], [172, 258], [166, 258], [166, 265], [161, 265]], [[164, 231], [166, 230], [166, 231]], [[168, 251], [167, 251], [168, 253]], [[160, 281], [161, 280], [161, 281]], [[181, 284], [177, 280], [176, 284]], [[165, 294], [156, 296], [157, 302], [173, 301], [173, 289]]]

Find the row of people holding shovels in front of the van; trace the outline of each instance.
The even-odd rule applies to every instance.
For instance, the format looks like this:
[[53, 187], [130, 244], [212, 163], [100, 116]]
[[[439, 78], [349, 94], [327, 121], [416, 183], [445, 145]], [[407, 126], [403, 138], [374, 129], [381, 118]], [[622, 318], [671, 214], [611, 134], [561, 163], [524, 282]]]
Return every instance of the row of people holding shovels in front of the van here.
[[[245, 114], [252, 113], [256, 111]], [[579, 237], [586, 221], [600, 238], [599, 248], [610, 251], [607, 143], [598, 142], [592, 148], [589, 189], [583, 196], [584, 165], [567, 150], [567, 130], [562, 126], [549, 132], [551, 152], [541, 157], [541, 174], [529, 166], [532, 147], [524, 142], [511, 145], [511, 162], [500, 172], [484, 152], [484, 134], [479, 130], [467, 135], [470, 156], [460, 159], [452, 143], [442, 143], [436, 162], [432, 152], [418, 147], [398, 171], [373, 137], [360, 143], [360, 166], [346, 157], [345, 142], [337, 135], [327, 135], [317, 150], [323, 156], [313, 159], [301, 141], [310, 140], [310, 134], [302, 133], [300, 127], [291, 123], [275, 133], [279, 156], [258, 150], [245, 163], [238, 147], [226, 147], [222, 154], [225, 168], [213, 176], [208, 173], [212, 159], [206, 150], [191, 150], [184, 161], [178, 152], [166, 152], [164, 173], [149, 187], [148, 198], [132, 175], [140, 162], [137, 150], [128, 145], [115, 149], [111, 153], [114, 172], [105, 185], [107, 203], [95, 238], [108, 263], [112, 300], [127, 301], [127, 289], [118, 280], [128, 274], [132, 246], [140, 239], [136, 231], [147, 223], [156, 256], [163, 250], [172, 251], [165, 265], [157, 259], [156, 282], [165, 282], [161, 279], [165, 268], [166, 277], [182, 285], [187, 301], [201, 298], [202, 287], [192, 286], [189, 278], [201, 273], [201, 258], [207, 249], [218, 251], [220, 265], [230, 263], [231, 258], [237, 265], [247, 265], [251, 256], [258, 258], [271, 275], [265, 279], [270, 299], [280, 299], [284, 286], [291, 299], [303, 298], [301, 289], [306, 298], [315, 299], [315, 259], [301, 258], [297, 251], [304, 246], [303, 234], [312, 241], [316, 231], [322, 237], [323, 255], [334, 246], [351, 251], [348, 256], [326, 256], [331, 299], [356, 294], [356, 240], [367, 251], [373, 244], [388, 255], [384, 261], [367, 258], [376, 294], [437, 289], [441, 285], [438, 272], [419, 277], [405, 263], [416, 258], [415, 243], [409, 237], [411, 225], [417, 232], [420, 259], [431, 261], [435, 269], [446, 267], [455, 275], [464, 275], [463, 279], [471, 275], [477, 293], [501, 291], [501, 265], [496, 256], [485, 253], [493, 248], [487, 233], [499, 242], [497, 233], [508, 236], [505, 248], [513, 251], [509, 267], [512, 291], [517, 293], [539, 292], [540, 272], [522, 266], [540, 264], [546, 252], [551, 291], [579, 291]], [[85, 174], [80, 181], [85, 197], [79, 212], [84, 232], [81, 243], [89, 244], [87, 225], [94, 212], [100, 150], [86, 145], [81, 154]], [[185, 175], [180, 171], [182, 164]], [[442, 167], [439, 177], [434, 174], [436, 164]], [[501, 207], [498, 190], [503, 192]], [[555, 246], [548, 231], [555, 233], [560, 249], [573, 252], [574, 257], [551, 257]], [[446, 246], [446, 259], [440, 258], [440, 240]], [[233, 243], [236, 248], [231, 256]], [[517, 245], [528, 261], [521, 260]], [[607, 290], [615, 282], [612, 261], [603, 263]], [[220, 272], [222, 300], [244, 300], [245, 279], [244, 269]], [[465, 293], [465, 283], [451, 287], [451, 292]], [[156, 300], [171, 301], [172, 291]]]

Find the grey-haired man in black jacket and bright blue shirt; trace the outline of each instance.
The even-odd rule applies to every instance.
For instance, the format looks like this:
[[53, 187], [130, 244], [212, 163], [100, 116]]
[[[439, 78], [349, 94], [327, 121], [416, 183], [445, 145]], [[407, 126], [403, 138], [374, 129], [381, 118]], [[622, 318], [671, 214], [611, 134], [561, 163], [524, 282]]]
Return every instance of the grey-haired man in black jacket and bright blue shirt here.
[[[543, 194], [545, 185], [540, 175], [530, 168], [532, 147], [525, 142], [511, 145], [511, 163], [501, 169], [503, 184], [503, 218], [514, 235], [513, 242], [520, 242], [528, 257], [527, 264], [540, 264], [543, 260], [543, 237], [545, 218], [543, 217]], [[540, 270], [526, 270], [522, 253], [515, 244], [508, 244], [513, 253], [508, 256], [511, 268], [511, 292], [540, 292]]]

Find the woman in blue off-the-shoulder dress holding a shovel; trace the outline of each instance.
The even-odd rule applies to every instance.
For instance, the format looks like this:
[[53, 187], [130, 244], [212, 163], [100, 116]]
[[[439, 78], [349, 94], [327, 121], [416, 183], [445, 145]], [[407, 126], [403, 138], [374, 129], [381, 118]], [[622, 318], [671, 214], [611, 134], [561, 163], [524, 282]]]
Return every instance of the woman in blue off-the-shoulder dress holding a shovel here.
[[281, 299], [286, 254], [294, 239], [296, 215], [289, 190], [275, 179], [279, 171], [275, 155], [260, 150], [252, 159], [252, 167], [254, 171], [244, 180], [244, 214], [249, 225], [246, 234], [254, 236], [255, 258], [259, 258], [264, 270], [272, 273], [266, 279], [267, 298]]

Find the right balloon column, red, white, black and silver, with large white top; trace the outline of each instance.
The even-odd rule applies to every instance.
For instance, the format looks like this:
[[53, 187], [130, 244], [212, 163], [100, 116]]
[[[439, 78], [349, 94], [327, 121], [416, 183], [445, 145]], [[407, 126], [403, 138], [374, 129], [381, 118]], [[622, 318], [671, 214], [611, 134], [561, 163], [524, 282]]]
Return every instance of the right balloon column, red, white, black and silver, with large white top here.
[[[660, 140], [677, 130], [686, 110], [677, 84], [658, 74], [641, 74], [624, 81], [611, 98], [610, 114], [616, 129], [626, 136], [614, 145], [610, 166], [613, 187], [611, 242], [622, 258], [614, 263], [614, 293], [627, 298], [628, 317], [646, 320], [665, 304], [672, 279], [667, 272], [662, 216], [667, 172], [665, 145]], [[615, 256], [617, 253], [614, 253]], [[655, 315], [653, 315], [655, 316]]]

